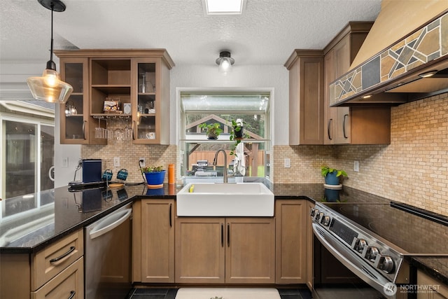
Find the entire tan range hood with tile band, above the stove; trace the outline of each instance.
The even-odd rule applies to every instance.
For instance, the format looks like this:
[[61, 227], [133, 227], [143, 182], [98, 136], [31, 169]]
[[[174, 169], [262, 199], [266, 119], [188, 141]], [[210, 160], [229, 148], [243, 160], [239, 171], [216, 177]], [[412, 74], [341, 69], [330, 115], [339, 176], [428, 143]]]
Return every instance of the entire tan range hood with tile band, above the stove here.
[[[448, 1], [383, 1], [386, 4], [381, 4], [381, 12], [350, 71], [330, 84], [330, 106], [399, 105], [448, 92]], [[400, 5], [402, 9], [398, 8]], [[409, 14], [411, 9], [423, 13]], [[379, 52], [376, 49], [377, 54], [369, 53], [365, 59], [376, 41], [384, 36], [387, 39], [385, 29], [403, 30], [407, 26], [400, 27], [397, 18], [401, 18], [402, 24], [409, 24], [413, 17], [420, 23], [426, 21], [412, 32], [401, 34], [405, 37], [389, 42], [392, 46]], [[360, 61], [363, 63], [358, 64]]]

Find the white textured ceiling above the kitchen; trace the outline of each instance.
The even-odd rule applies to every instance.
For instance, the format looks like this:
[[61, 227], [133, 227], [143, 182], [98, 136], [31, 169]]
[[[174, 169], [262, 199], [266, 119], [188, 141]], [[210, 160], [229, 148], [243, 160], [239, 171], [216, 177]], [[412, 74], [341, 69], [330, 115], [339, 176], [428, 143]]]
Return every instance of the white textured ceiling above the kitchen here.
[[[321, 49], [349, 21], [372, 21], [381, 0], [247, 0], [242, 15], [204, 15], [202, 0], [64, 0], [55, 49], [166, 48], [180, 64], [282, 65], [295, 48]], [[51, 12], [37, 0], [0, 1], [0, 62], [43, 62]]]

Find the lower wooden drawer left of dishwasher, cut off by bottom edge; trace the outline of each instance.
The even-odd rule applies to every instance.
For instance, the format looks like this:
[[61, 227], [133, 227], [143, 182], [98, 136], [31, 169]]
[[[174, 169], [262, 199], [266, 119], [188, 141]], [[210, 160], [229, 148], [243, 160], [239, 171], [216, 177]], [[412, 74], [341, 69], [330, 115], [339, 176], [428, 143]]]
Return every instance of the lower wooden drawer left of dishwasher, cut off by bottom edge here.
[[84, 258], [66, 267], [35, 292], [31, 299], [83, 299]]

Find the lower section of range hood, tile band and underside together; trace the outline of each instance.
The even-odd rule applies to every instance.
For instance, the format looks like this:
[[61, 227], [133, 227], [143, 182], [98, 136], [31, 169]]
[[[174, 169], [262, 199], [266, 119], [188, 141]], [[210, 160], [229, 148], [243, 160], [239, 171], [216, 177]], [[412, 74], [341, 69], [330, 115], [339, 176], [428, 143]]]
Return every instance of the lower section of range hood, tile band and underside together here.
[[[331, 83], [330, 106], [396, 105], [447, 92], [447, 70], [445, 11]], [[437, 73], [421, 78], [427, 71]]]

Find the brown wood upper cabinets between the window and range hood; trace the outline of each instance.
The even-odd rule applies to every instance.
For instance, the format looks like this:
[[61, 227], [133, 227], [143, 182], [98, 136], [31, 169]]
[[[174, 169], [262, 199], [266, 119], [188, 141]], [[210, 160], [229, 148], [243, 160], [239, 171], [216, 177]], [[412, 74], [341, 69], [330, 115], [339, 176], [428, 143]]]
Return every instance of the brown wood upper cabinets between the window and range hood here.
[[372, 22], [350, 22], [323, 50], [294, 50], [289, 144], [390, 144], [389, 106], [330, 107], [329, 85], [349, 70]]

